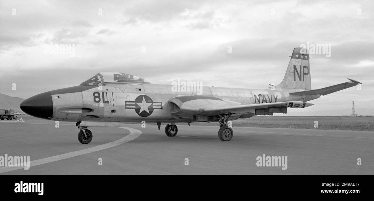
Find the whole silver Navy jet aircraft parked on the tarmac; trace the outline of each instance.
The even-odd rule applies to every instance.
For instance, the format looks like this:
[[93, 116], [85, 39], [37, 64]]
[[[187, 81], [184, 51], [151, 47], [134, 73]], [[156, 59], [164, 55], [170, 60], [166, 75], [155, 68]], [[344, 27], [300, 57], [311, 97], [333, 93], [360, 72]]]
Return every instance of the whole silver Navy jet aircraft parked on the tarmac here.
[[218, 138], [230, 141], [232, 128], [227, 122], [254, 115], [287, 113], [288, 108], [304, 108], [307, 101], [358, 84], [355, 80], [313, 89], [309, 52], [294, 48], [283, 81], [270, 89], [203, 87], [178, 91], [172, 85], [151, 84], [140, 77], [118, 72], [95, 74], [78, 86], [44, 92], [21, 103], [25, 113], [53, 121], [76, 122], [78, 140], [88, 144], [88, 127], [115, 127], [124, 122], [169, 123], [166, 135], [177, 135], [176, 123], [219, 122]]

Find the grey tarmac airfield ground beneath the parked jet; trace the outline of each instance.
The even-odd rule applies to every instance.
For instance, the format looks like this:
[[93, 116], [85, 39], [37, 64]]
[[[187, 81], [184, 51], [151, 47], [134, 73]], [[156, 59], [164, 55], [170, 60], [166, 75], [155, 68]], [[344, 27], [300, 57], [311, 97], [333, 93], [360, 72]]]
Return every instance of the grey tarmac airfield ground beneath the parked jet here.
[[[0, 156], [30, 156], [32, 167], [0, 167], [0, 174], [374, 174], [371, 131], [234, 125], [233, 139], [222, 142], [218, 126], [177, 124], [177, 136], [167, 137], [164, 125], [159, 131], [156, 125], [123, 124], [141, 133], [90, 127], [93, 140], [80, 144], [74, 123], [55, 128], [53, 121], [20, 117], [25, 122], [0, 122]], [[263, 154], [287, 156], [287, 170], [257, 167]]]

